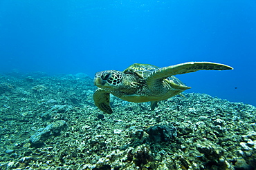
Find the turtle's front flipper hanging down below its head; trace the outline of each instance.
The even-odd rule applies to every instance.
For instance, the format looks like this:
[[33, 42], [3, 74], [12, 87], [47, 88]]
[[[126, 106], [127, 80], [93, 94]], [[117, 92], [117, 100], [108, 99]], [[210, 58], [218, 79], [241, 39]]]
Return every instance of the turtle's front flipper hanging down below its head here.
[[113, 111], [109, 105], [109, 99], [109, 92], [104, 89], [98, 88], [93, 94], [93, 100], [95, 105], [104, 113], [112, 114]]

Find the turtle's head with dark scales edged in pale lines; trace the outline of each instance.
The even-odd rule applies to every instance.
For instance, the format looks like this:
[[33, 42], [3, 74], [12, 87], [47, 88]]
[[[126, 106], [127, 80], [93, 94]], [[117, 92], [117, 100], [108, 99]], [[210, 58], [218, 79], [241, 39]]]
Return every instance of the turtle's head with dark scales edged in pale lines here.
[[97, 72], [94, 77], [94, 85], [102, 89], [116, 89], [122, 85], [123, 72], [107, 70]]

